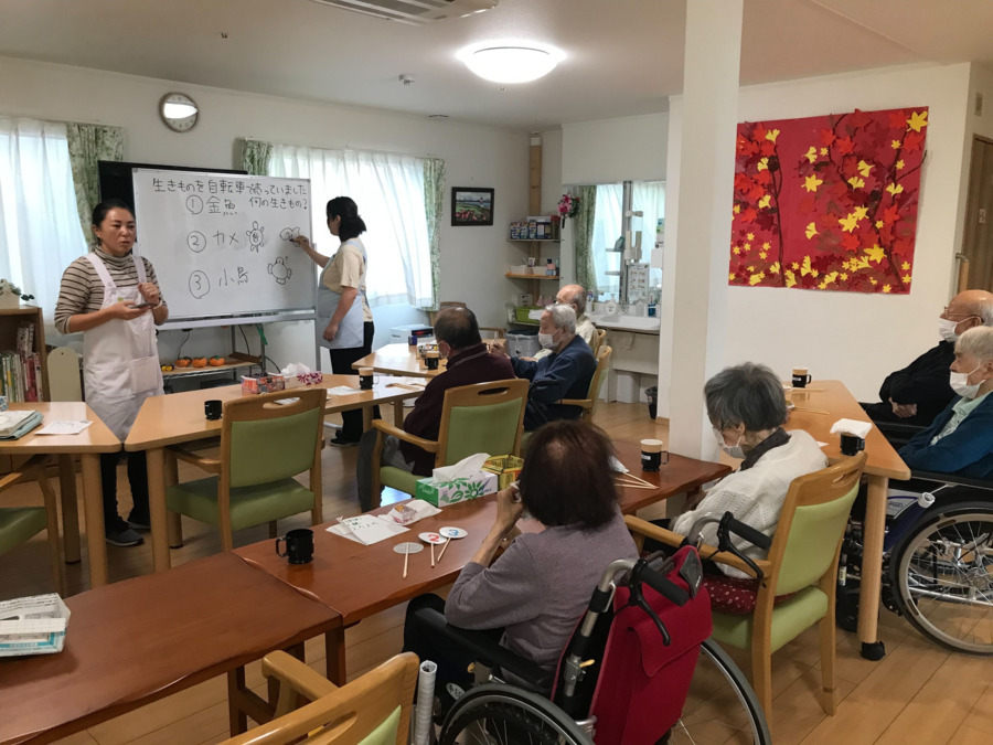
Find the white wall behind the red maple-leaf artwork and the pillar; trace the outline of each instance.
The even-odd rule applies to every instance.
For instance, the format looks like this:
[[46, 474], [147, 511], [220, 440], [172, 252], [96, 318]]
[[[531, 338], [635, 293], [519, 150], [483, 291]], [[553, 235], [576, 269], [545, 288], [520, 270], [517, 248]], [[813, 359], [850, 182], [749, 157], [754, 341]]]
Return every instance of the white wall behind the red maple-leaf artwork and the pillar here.
[[[951, 291], [961, 244], [963, 162], [970, 65], [921, 65], [743, 88], [739, 121], [928, 106], [927, 160], [921, 177], [914, 283], [909, 295], [819, 292], [728, 287], [725, 362], [764, 362], [783, 375], [793, 364], [815, 377], [843, 380], [863, 401], [875, 401], [887, 373], [938, 341], [937, 318]], [[675, 214], [679, 199], [679, 99], [670, 103], [666, 178], [666, 259], [663, 292], [677, 281]], [[728, 205], [729, 206], [729, 205]], [[670, 300], [671, 301], [671, 300]], [[660, 416], [668, 416], [672, 308], [663, 304], [660, 337]], [[701, 381], [703, 385], [703, 381]]]

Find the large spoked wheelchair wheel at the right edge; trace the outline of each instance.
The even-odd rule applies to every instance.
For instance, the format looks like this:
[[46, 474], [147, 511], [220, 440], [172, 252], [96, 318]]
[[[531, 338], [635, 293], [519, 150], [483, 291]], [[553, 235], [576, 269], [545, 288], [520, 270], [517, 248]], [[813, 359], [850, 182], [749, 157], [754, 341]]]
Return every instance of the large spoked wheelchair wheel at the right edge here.
[[953, 503], [926, 514], [889, 562], [904, 616], [948, 649], [993, 654], [993, 507]]

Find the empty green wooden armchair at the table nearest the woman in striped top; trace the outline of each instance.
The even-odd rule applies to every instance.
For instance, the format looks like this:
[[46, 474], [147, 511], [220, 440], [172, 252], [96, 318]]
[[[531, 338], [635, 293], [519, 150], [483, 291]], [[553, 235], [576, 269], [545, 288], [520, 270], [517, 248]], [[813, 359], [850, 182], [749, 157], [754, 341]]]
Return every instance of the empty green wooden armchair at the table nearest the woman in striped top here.
[[[277, 401], [296, 400], [278, 404]], [[321, 432], [324, 389], [280, 391], [224, 403], [221, 416], [220, 459], [206, 458], [180, 446], [170, 455], [199, 466], [205, 479], [166, 489], [169, 511], [221, 529], [224, 551], [232, 533], [310, 510], [311, 522], [323, 522], [321, 508]], [[292, 477], [310, 471], [310, 488]], [[172, 531], [175, 530], [173, 522]], [[171, 531], [171, 532], [172, 532]], [[171, 544], [180, 543], [175, 534]]]

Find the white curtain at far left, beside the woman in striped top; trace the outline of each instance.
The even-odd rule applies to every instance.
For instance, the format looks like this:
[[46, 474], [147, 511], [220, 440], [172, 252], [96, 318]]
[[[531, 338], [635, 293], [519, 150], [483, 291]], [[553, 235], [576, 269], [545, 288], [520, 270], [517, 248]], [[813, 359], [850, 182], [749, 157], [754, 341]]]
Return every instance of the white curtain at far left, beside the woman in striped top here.
[[0, 277], [51, 319], [63, 270], [86, 252], [65, 125], [0, 117]]

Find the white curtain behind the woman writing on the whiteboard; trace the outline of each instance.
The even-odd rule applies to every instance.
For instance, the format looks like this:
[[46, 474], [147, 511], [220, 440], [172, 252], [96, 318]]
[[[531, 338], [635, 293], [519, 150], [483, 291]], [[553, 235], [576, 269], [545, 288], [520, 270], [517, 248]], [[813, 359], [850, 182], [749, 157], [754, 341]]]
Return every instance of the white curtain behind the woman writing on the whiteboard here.
[[367, 228], [362, 243], [369, 255], [371, 306], [433, 306], [423, 158], [276, 145], [268, 170], [269, 175], [310, 179], [310, 240], [322, 254], [338, 249], [338, 240], [328, 233], [324, 205], [335, 196], [355, 200]]

